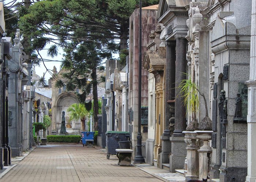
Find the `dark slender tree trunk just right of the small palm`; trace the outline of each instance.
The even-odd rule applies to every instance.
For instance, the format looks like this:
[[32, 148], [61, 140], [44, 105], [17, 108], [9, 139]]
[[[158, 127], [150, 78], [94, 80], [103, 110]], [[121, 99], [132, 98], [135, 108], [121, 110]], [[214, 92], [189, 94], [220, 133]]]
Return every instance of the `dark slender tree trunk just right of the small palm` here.
[[99, 104], [98, 104], [98, 90], [97, 90], [97, 73], [96, 67], [93, 68], [91, 78], [93, 80], [93, 119], [94, 119], [94, 131], [98, 131], [98, 114], [99, 114]]

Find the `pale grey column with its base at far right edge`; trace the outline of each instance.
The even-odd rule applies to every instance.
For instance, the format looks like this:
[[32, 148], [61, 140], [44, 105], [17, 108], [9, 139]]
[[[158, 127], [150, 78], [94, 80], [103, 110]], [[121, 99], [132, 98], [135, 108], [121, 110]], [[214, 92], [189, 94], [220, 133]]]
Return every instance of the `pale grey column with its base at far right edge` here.
[[256, 181], [256, 0], [252, 0], [252, 22], [251, 22], [251, 59], [250, 59], [250, 80], [245, 82], [248, 86], [248, 147], [247, 147], [247, 176], [246, 182]]

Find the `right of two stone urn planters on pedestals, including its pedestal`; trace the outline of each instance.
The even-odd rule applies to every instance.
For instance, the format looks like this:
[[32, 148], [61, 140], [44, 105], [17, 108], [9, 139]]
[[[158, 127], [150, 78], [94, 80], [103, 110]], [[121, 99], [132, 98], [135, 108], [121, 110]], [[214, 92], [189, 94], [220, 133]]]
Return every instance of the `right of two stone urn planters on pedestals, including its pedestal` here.
[[199, 179], [207, 179], [208, 176], [208, 153], [211, 153], [211, 147], [208, 145], [209, 140], [211, 140], [211, 134], [213, 131], [195, 131], [197, 133], [197, 138], [203, 140], [204, 145], [200, 147], [199, 150]]

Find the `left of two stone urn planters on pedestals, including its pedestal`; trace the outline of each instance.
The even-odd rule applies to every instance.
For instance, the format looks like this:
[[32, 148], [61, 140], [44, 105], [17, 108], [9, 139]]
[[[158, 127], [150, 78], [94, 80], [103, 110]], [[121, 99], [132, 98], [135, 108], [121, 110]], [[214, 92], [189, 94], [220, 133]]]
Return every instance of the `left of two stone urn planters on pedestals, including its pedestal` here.
[[[187, 174], [185, 175], [186, 181], [192, 179], [199, 179], [199, 155], [197, 150], [199, 149], [196, 145], [197, 133], [194, 131], [183, 131], [185, 133], [186, 143], [189, 145], [187, 149]], [[191, 143], [189, 142], [191, 140]]]

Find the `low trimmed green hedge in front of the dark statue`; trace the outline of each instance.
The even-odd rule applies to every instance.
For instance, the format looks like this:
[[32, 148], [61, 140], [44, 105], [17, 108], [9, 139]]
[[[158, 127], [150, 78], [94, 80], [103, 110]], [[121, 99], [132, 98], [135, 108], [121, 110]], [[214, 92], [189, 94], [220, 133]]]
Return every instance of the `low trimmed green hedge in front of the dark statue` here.
[[80, 135], [48, 135], [47, 142], [57, 142], [57, 143], [79, 143], [81, 140]]

